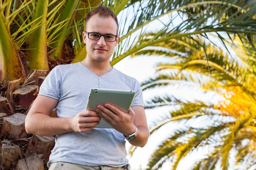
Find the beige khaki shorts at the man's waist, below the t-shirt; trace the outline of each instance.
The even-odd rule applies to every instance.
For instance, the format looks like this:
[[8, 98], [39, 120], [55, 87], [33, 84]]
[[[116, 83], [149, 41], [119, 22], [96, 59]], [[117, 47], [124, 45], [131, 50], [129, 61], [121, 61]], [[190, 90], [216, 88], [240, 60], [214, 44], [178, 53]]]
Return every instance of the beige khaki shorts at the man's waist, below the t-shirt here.
[[74, 164], [69, 162], [54, 162], [50, 165], [49, 170], [129, 170], [129, 164], [122, 167], [110, 167], [106, 165], [98, 167], [90, 167], [81, 164]]

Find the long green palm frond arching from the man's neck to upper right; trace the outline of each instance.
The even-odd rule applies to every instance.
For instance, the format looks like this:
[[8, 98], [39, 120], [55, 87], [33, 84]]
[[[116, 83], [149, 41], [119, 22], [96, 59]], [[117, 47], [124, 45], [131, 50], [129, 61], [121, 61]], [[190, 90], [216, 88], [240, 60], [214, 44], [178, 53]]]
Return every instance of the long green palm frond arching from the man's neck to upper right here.
[[[214, 3], [214, 2], [212, 2], [212, 3]], [[230, 5], [227, 5], [227, 4], [226, 5], [222, 4], [221, 6], [228, 6], [228, 8], [231, 8]], [[252, 13], [255, 13], [254, 8], [250, 8], [249, 11], [252, 12]], [[214, 12], [217, 12], [217, 11], [211, 11], [211, 12], [214, 13]], [[242, 19], [247, 14], [249, 14], [250, 12], [248, 12], [248, 13], [245, 12], [245, 13], [239, 15], [238, 17], [236, 17], [236, 21], [237, 21], [237, 18]], [[209, 18], [210, 17], [216, 17], [215, 20], [220, 20], [222, 15], [221, 14], [218, 14], [217, 16], [209, 15], [207, 17], [209, 17]], [[206, 19], [203, 19], [203, 18], [198, 17], [198, 15], [195, 15], [195, 16], [187, 19], [187, 20], [184, 20], [183, 23], [181, 23], [177, 27], [172, 28], [171, 30], [168, 29], [168, 28], [167, 29], [163, 28], [163, 30], [159, 31], [158, 34], [155, 34], [154, 37], [151, 38], [151, 41], [148, 42], [148, 43], [143, 43], [143, 38], [145, 37], [144, 35], [146, 33], [145, 34], [140, 34], [140, 37], [138, 37], [137, 42], [140, 43], [139, 45], [138, 45], [137, 42], [136, 42], [136, 44], [134, 44], [133, 47], [131, 47], [131, 45], [129, 45], [129, 46], [125, 45], [125, 43], [129, 43], [129, 40], [125, 41], [125, 43], [120, 43], [120, 48], [122, 48], [122, 50], [125, 48], [125, 46], [128, 47], [128, 48], [125, 48], [125, 50], [124, 50], [124, 51], [128, 51], [128, 52], [124, 52], [124, 54], [116, 54], [118, 57], [114, 57], [111, 63], [112, 63], [112, 65], [114, 65], [116, 62], [120, 61], [121, 59], [123, 59], [123, 58], [125, 58], [125, 57], [127, 57], [131, 54], [134, 54], [137, 51], [140, 51], [141, 49], [143, 49], [147, 46], [154, 45], [156, 43], [164, 42], [164, 41], [167, 41], [167, 40], [177, 39], [177, 38], [180, 38], [180, 37], [186, 37], [186, 36], [189, 36], [189, 35], [204, 34], [204, 33], [213, 32], [213, 31], [218, 32], [218, 31], [221, 31], [221, 30], [225, 31], [225, 32], [228, 32], [228, 31], [234, 32], [235, 31], [237, 33], [242, 33], [241, 30], [239, 31], [239, 28], [241, 26], [243, 26], [244, 23], [242, 23], [242, 24], [235, 23], [233, 21], [232, 17], [228, 18], [227, 20], [225, 20], [225, 22], [222, 22], [222, 23], [221, 22], [220, 23], [213, 22], [209, 26], [202, 26], [202, 22], [204, 20], [207, 20], [207, 17], [206, 17]], [[199, 20], [202, 20], [202, 22], [198, 23]], [[184, 25], [185, 23], [186, 23], [186, 25]], [[246, 25], [249, 26], [250, 24], [252, 24], [252, 21], [247, 20]], [[169, 26], [169, 24], [167, 24], [167, 25]], [[252, 26], [254, 26], [254, 25], [252, 24]], [[189, 32], [190, 29], [191, 30], [193, 29], [194, 32]], [[250, 29], [250, 31], [252, 31], [253, 29]], [[184, 30], [185, 30], [185, 32], [183, 32]], [[243, 31], [247, 32], [249, 30], [247, 30], [247, 31], [243, 30]], [[252, 33], [252, 32], [250, 32], [250, 33]], [[128, 34], [128, 36], [129, 36], [129, 34]], [[120, 40], [120, 41], [122, 42], [122, 40]]]

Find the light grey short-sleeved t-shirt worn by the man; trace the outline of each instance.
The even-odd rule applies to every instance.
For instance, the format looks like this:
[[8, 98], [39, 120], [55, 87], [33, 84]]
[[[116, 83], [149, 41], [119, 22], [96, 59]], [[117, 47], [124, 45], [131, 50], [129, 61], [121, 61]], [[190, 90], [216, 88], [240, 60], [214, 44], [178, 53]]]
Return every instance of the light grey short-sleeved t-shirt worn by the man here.
[[[91, 88], [136, 91], [132, 106], [143, 106], [140, 83], [113, 68], [98, 77], [80, 62], [58, 65], [42, 83], [39, 94], [58, 99], [58, 117], [74, 117], [85, 109]], [[125, 138], [115, 129], [94, 128], [85, 133], [69, 132], [55, 136], [55, 147], [47, 162], [56, 161], [87, 166], [108, 165], [120, 167], [128, 164]]]

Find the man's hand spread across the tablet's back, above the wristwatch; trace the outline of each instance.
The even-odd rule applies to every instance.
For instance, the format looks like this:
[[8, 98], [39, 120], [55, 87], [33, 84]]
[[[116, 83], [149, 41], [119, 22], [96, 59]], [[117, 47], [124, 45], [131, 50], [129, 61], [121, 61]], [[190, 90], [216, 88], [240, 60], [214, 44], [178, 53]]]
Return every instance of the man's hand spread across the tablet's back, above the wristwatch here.
[[98, 105], [96, 111], [102, 119], [125, 136], [134, 133], [135, 113], [131, 108], [128, 113], [124, 113], [111, 104], [105, 104], [104, 106]]

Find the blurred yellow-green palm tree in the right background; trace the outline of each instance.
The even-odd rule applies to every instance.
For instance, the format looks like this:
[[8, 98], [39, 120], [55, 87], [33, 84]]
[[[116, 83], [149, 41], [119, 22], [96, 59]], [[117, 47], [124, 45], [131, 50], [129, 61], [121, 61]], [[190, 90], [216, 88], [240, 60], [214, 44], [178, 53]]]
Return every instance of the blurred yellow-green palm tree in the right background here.
[[[148, 36], [151, 34], [154, 33], [148, 33]], [[238, 169], [241, 169], [239, 165], [242, 164], [246, 164], [245, 169], [256, 164], [256, 51], [244, 36], [236, 35], [231, 38], [232, 42], [223, 40], [226, 47], [233, 46], [236, 52], [233, 58], [228, 51], [224, 52], [212, 42], [204, 40], [205, 38], [195, 36], [182, 37], [155, 44], [154, 48], [159, 50], [147, 49], [133, 54], [133, 57], [154, 54], [175, 58], [172, 63], [157, 64], [156, 75], [141, 84], [143, 91], [167, 85], [184, 88], [196, 83], [204, 93], [215, 92], [224, 97], [224, 100], [213, 104], [198, 100], [184, 101], [165, 94], [146, 102], [146, 109], [179, 106], [177, 110], [170, 111], [169, 116], [155, 121], [155, 126], [150, 129], [151, 134], [173, 121], [182, 122], [199, 117], [215, 120], [215, 123], [206, 127], [191, 126], [185, 130], [176, 130], [152, 154], [148, 162], [150, 170], [161, 167], [168, 159], [174, 160], [173, 169], [176, 169], [184, 156], [207, 145], [215, 150], [207, 158], [198, 161], [194, 170], [213, 170], [218, 161], [221, 161], [221, 167], [226, 170], [229, 167], [231, 149], [238, 151]], [[145, 41], [150, 41], [150, 38], [145, 38]], [[242, 141], [247, 141], [247, 144], [242, 144]], [[131, 155], [135, 149], [136, 147], [131, 147]]]

